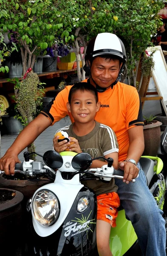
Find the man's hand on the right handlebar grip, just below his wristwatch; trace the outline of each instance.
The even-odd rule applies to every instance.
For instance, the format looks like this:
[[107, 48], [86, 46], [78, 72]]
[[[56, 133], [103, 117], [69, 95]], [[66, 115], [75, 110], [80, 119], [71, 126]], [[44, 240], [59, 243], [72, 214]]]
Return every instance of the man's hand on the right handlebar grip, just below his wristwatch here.
[[130, 162], [119, 162], [118, 168], [124, 171], [123, 182], [130, 183], [132, 179], [138, 176], [139, 169], [133, 163]]

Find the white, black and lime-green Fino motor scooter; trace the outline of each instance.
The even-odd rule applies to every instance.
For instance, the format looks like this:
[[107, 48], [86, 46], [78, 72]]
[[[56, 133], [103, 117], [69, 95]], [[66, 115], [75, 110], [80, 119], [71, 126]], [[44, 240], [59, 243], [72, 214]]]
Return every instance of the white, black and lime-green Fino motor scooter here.
[[[37, 154], [37, 153], [36, 153]], [[24, 256], [98, 256], [96, 247], [97, 200], [95, 193], [84, 187], [81, 180], [111, 178], [123, 179], [124, 172], [115, 170], [112, 158], [97, 169], [91, 169], [92, 160], [99, 159], [87, 153], [46, 151], [43, 162], [29, 160], [16, 164], [15, 172], [26, 176], [46, 176], [53, 181], [37, 189], [27, 203], [27, 221]], [[141, 157], [150, 191], [159, 207], [164, 204], [163, 163], [159, 158]], [[55, 171], [56, 170], [56, 171]], [[135, 182], [135, 180], [132, 180]], [[161, 193], [160, 193], [161, 191]], [[113, 256], [141, 255], [137, 236], [124, 209], [119, 209], [117, 227], [111, 230], [110, 248]]]

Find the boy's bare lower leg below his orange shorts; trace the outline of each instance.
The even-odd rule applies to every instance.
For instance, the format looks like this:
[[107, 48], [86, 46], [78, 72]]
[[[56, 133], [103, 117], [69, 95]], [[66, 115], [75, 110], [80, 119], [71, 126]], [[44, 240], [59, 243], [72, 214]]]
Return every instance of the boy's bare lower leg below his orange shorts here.
[[106, 221], [97, 220], [96, 239], [99, 256], [112, 256], [109, 248], [109, 235], [111, 225]]

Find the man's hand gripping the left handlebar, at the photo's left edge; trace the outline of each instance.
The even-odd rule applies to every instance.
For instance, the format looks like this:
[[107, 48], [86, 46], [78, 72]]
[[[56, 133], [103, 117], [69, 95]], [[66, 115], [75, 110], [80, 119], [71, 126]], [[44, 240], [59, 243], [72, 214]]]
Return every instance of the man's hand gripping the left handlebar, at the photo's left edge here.
[[6, 154], [0, 159], [0, 170], [4, 171], [6, 175], [14, 175], [16, 163], [20, 163], [17, 155], [6, 152]]

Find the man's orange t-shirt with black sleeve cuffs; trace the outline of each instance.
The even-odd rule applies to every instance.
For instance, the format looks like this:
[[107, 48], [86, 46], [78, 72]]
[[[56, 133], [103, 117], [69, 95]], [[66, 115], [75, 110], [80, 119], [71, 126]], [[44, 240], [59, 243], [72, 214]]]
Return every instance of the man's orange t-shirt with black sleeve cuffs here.
[[[84, 82], [86, 81], [84, 80]], [[66, 86], [40, 112], [49, 118], [52, 125], [66, 115], [69, 115], [71, 122], [74, 122], [66, 107], [71, 87], [70, 85]], [[129, 148], [127, 130], [136, 125], [144, 125], [138, 91], [135, 87], [118, 82], [113, 89], [109, 88], [103, 93], [98, 93], [98, 100], [101, 102], [101, 108], [96, 113], [95, 120], [108, 125], [115, 131], [119, 144], [119, 161], [123, 161], [127, 157]]]

